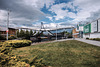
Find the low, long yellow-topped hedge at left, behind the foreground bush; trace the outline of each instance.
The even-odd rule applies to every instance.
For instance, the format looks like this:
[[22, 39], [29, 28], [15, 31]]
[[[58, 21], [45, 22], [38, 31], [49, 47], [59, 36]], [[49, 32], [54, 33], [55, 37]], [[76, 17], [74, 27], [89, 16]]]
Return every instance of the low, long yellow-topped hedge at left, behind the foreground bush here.
[[18, 47], [30, 46], [31, 43], [32, 42], [30, 40], [8, 40], [4, 42], [4, 45], [18, 48]]

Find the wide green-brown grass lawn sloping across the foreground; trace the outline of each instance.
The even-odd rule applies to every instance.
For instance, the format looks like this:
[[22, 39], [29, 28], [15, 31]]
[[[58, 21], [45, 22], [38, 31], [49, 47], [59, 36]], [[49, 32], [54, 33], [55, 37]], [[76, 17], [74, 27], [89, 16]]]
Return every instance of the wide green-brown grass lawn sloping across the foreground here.
[[100, 47], [76, 40], [46, 43], [12, 51], [23, 58], [43, 58], [52, 67], [100, 67]]

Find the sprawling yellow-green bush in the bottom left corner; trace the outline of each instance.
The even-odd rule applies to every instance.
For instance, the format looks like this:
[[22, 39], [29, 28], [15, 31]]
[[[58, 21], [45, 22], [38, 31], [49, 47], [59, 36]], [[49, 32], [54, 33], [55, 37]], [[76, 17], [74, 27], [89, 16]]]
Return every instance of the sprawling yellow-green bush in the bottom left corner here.
[[[38, 60], [37, 57], [31, 59], [21, 60], [20, 56], [13, 55], [11, 53], [12, 46], [9, 43], [0, 47], [0, 67], [42, 67], [44, 66], [41, 62], [42, 60]], [[28, 61], [28, 62], [26, 62]]]

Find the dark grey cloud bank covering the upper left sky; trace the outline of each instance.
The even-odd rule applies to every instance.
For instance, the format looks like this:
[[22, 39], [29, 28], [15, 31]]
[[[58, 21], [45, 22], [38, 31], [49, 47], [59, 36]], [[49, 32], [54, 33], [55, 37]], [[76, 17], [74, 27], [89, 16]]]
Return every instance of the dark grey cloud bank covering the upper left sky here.
[[[50, 5], [54, 3], [53, 0], [0, 0], [0, 25], [5, 22], [7, 19], [7, 10], [10, 12], [10, 25], [21, 26], [26, 25], [30, 26], [33, 22], [41, 20], [46, 17], [46, 14], [41, 11], [41, 8], [49, 8]], [[15, 25], [14, 25], [15, 24]]]

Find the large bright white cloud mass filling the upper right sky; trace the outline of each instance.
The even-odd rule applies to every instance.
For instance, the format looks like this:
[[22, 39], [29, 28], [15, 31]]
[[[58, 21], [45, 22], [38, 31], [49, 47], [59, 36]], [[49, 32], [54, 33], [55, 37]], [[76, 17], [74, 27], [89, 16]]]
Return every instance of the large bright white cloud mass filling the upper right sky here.
[[[73, 0], [51, 6], [49, 9], [55, 13], [55, 20], [73, 18], [71, 22], [93, 21], [100, 18], [100, 0]], [[91, 19], [90, 19], [91, 18]]]

